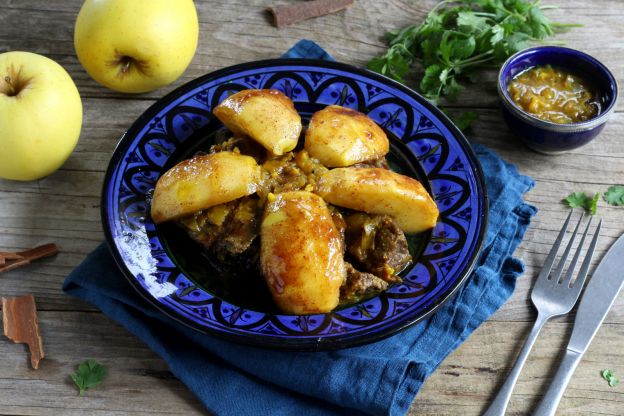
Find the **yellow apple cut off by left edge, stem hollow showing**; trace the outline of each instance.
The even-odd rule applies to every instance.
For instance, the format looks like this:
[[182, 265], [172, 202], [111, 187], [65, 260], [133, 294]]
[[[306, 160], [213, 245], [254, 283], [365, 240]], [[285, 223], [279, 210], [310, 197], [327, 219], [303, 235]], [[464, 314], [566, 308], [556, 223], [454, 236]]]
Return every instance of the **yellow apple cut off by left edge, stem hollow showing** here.
[[30, 52], [0, 54], [0, 178], [49, 175], [76, 147], [82, 102], [59, 64]]

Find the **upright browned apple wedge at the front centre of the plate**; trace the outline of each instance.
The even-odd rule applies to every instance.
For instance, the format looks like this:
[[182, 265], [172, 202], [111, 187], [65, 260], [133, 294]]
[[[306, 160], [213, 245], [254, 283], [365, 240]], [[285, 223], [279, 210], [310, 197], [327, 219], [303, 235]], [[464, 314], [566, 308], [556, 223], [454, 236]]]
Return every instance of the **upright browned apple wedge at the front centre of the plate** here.
[[318, 195], [294, 191], [269, 198], [260, 227], [260, 265], [282, 311], [324, 313], [338, 305], [347, 273], [343, 247]]

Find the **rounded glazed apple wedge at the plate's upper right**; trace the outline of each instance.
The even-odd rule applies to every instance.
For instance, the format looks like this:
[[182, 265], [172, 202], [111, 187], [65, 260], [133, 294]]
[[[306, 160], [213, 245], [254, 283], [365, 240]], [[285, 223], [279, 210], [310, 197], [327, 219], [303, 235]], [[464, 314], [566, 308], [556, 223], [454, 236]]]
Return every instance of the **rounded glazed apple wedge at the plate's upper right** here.
[[344, 167], [388, 153], [386, 133], [365, 114], [330, 105], [317, 111], [306, 131], [305, 149], [328, 167]]

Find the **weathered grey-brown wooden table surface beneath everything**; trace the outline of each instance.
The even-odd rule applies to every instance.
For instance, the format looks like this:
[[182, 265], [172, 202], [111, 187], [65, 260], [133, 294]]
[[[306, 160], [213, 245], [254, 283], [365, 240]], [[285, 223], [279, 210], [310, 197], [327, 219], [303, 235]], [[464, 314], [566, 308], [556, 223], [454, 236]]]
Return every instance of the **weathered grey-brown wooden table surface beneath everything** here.
[[[292, 0], [294, 1], [294, 0]], [[284, 3], [287, 0], [275, 0]], [[80, 90], [84, 123], [77, 149], [53, 175], [30, 183], [0, 180], [0, 250], [55, 242], [55, 258], [0, 275], [0, 295], [36, 297], [46, 358], [30, 368], [24, 345], [0, 336], [0, 414], [160, 415], [205, 414], [166, 364], [134, 336], [90, 305], [66, 296], [61, 282], [103, 239], [100, 189], [104, 170], [124, 130], [154, 100], [215, 69], [280, 55], [301, 38], [323, 45], [337, 60], [362, 65], [380, 53], [382, 34], [420, 22], [433, 1], [359, 0], [346, 12], [277, 30], [264, 11], [273, 1], [196, 1], [199, 47], [182, 78], [143, 95], [122, 95], [89, 78], [74, 54], [73, 25], [80, 0], [0, 0], [0, 52], [46, 55], [70, 73]], [[553, 0], [554, 20], [584, 27], [557, 40], [603, 61], [624, 85], [624, 6], [619, 0]], [[457, 107], [478, 111], [468, 133], [486, 144], [537, 186], [526, 199], [539, 208], [516, 255], [527, 268], [513, 297], [484, 323], [425, 383], [410, 415], [476, 415], [502, 384], [535, 318], [531, 282], [567, 214], [561, 199], [573, 191], [603, 192], [624, 184], [624, 100], [600, 137], [569, 154], [547, 157], [529, 151], [504, 125], [495, 74], [461, 95]], [[0, 126], [0, 128], [2, 128]], [[597, 258], [624, 232], [624, 208], [599, 202], [604, 219]], [[595, 267], [595, 264], [594, 264]], [[557, 365], [573, 315], [548, 323], [520, 376], [508, 414], [529, 414]], [[86, 359], [109, 368], [109, 377], [78, 397], [68, 374]], [[561, 402], [561, 415], [624, 415], [624, 384], [608, 387], [599, 372], [612, 368], [624, 379], [624, 295], [620, 295]], [[234, 400], [234, 398], [232, 398]]]

